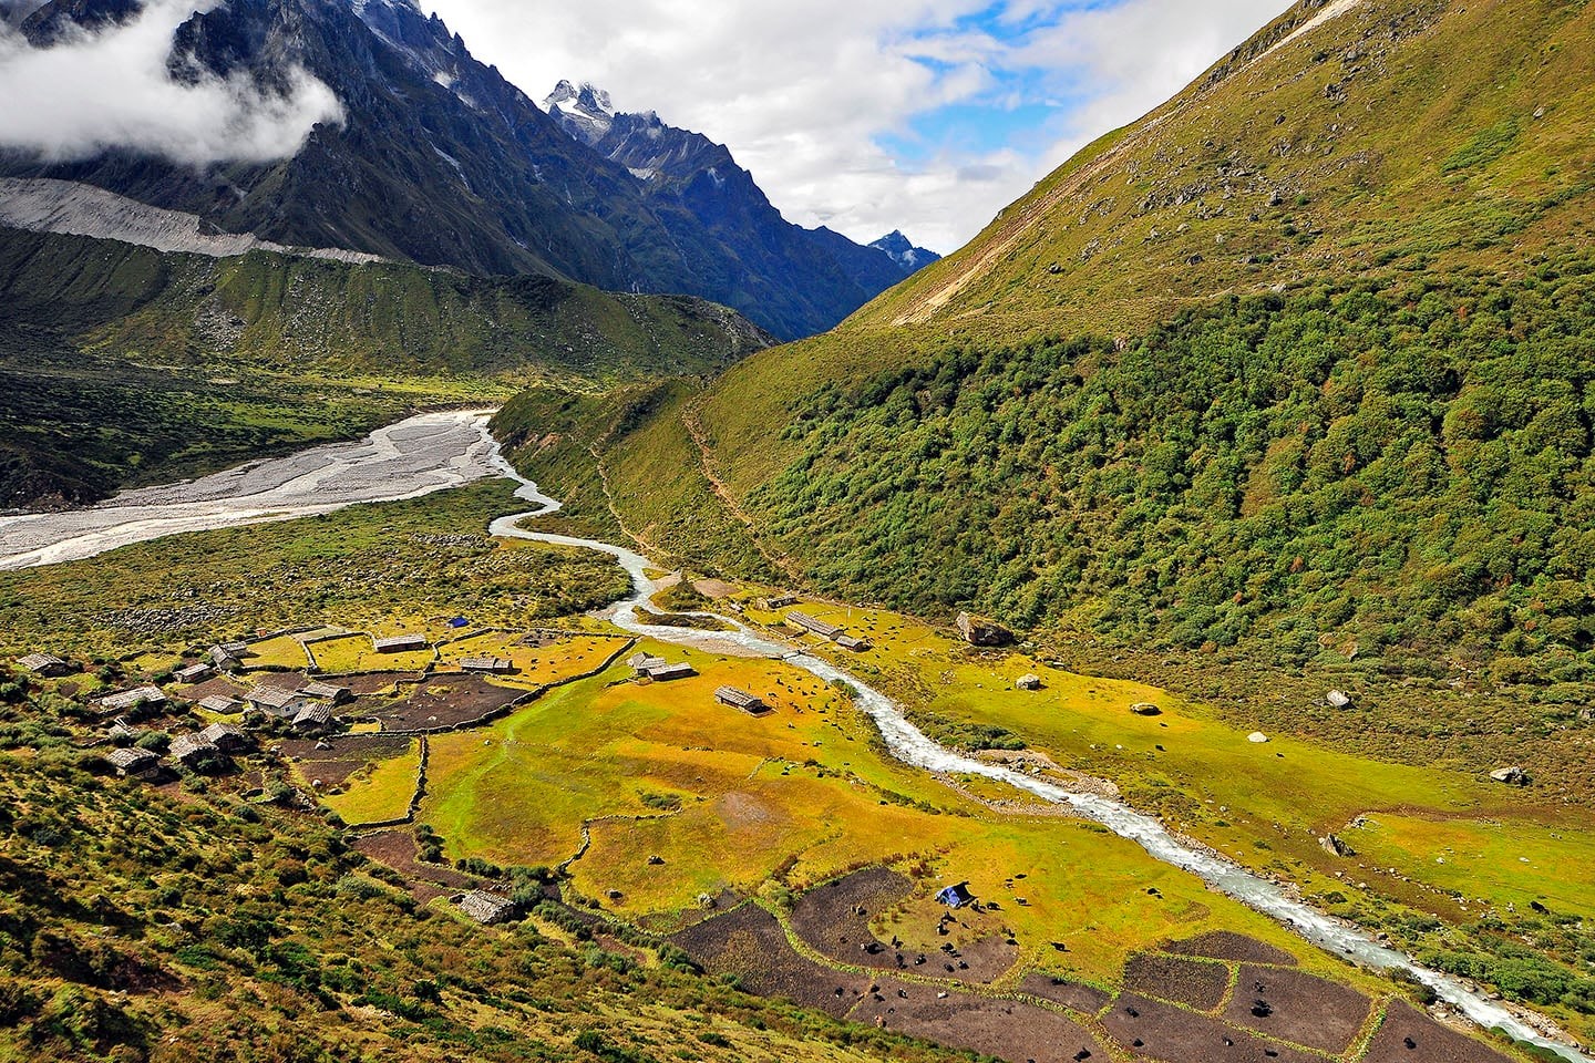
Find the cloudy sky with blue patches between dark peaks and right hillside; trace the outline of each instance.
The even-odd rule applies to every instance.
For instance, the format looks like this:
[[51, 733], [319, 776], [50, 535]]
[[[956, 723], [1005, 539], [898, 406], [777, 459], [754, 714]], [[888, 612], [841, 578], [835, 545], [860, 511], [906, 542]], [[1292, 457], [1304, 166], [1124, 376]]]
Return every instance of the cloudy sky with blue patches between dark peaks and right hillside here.
[[[952, 250], [1069, 151], [1134, 120], [1287, 0], [421, 0], [528, 96], [589, 80], [727, 143], [772, 202], [855, 239]], [[882, 147], [951, 104], [1043, 131], [928, 158]], [[1022, 140], [1019, 143], [1018, 140]], [[931, 145], [936, 148], [936, 145]]]

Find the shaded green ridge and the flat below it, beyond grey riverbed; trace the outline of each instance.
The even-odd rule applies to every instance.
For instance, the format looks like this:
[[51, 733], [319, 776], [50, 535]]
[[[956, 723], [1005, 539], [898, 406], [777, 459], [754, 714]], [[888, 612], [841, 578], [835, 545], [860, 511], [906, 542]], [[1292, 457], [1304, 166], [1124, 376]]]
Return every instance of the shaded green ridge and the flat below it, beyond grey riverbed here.
[[16, 382], [0, 507], [94, 500], [528, 382], [710, 373], [764, 343], [692, 298], [0, 229], [0, 379]]

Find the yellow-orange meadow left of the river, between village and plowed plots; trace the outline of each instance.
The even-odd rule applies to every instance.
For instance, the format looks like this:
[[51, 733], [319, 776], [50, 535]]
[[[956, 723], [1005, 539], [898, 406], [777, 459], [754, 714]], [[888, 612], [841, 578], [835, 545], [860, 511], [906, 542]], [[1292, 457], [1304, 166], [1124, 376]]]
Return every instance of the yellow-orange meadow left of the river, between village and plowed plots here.
[[[1057, 816], [1002, 816], [884, 757], [868, 720], [807, 673], [687, 657], [697, 677], [635, 684], [617, 666], [483, 732], [434, 738], [421, 821], [451, 857], [501, 864], [569, 861], [589, 822], [574, 886], [628, 918], [668, 921], [700, 894], [758, 892], [772, 880], [805, 889], [887, 862], [920, 875], [896, 931], [930, 934], [930, 896], [968, 880], [1002, 902], [992, 918], [1021, 947], [1013, 979], [1045, 966], [1112, 980], [1129, 951], [1215, 928], [1333, 963], [1134, 843]], [[719, 706], [719, 684], [775, 711]], [[1029, 877], [1026, 905], [1003, 886], [1014, 875]]]

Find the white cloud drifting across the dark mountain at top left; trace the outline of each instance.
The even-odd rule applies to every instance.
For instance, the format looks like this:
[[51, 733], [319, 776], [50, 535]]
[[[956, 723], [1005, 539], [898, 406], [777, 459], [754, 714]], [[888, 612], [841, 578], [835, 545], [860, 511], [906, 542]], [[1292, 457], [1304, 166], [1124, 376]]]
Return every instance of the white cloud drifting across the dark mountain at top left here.
[[298, 70], [284, 96], [244, 76], [174, 81], [172, 33], [215, 0], [150, 0], [131, 22], [32, 48], [0, 22], [0, 147], [61, 161], [136, 148], [177, 163], [270, 161], [317, 123], [341, 121], [332, 89]]

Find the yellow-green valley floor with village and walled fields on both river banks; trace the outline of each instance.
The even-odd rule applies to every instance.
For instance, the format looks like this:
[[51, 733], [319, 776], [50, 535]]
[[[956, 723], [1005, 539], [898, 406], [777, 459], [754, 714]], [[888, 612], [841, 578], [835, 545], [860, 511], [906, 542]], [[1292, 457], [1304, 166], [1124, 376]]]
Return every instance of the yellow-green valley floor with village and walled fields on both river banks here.
[[[708, 996], [786, 999], [804, 1022], [1010, 1060], [1496, 1060], [1525, 1049], [1483, 1038], [1453, 1009], [1426, 1014], [1432, 994], [1416, 982], [1348, 964], [1035, 792], [983, 771], [903, 763], [863, 688], [815, 674], [829, 674], [826, 658], [831, 673], [845, 668], [888, 692], [930, 738], [984, 749], [968, 763], [1158, 813], [1193, 851], [1289, 883], [1289, 896], [1348, 931], [1361, 924], [1420, 959], [1437, 942], [1471, 942], [1467, 928], [1495, 913], [1531, 907], [1568, 934], [1589, 918], [1595, 832], [1538, 803], [1533, 789], [1287, 736], [1249, 741], [1201, 704], [968, 647], [909, 617], [818, 601], [764, 609], [769, 586], [659, 579], [646, 604], [665, 615], [713, 602], [750, 637], [804, 657], [748, 657], [689, 628], [638, 625], [636, 602], [582, 615], [624, 598], [625, 582], [589, 551], [490, 539], [488, 518], [515, 508], [523, 504], [502, 481], [483, 481], [0, 577], [6, 650], [93, 661], [22, 684], [27, 700], [6, 730], [13, 773], [43, 771], [46, 749], [51, 763], [93, 770], [116, 743], [236, 724], [263, 752], [234, 755], [230, 771], [180, 768], [153, 790], [96, 786], [158, 805], [262, 810], [282, 837], [319, 829], [321, 805], [348, 859], [367, 861], [322, 864], [327, 889], [386, 883], [407, 897], [399, 912], [427, 923], [463, 918], [451, 899], [472, 891], [514, 900], [525, 915], [514, 928], [469, 932], [512, 951], [525, 934], [563, 942], [581, 964], [614, 975], [620, 1012], [627, 991], [644, 991], [641, 979], [665, 977], [643, 972], [689, 963], [724, 979], [695, 983]], [[633, 569], [641, 561], [628, 558]], [[266, 585], [270, 596], [250, 596]], [[129, 609], [94, 609], [118, 594]], [[871, 649], [799, 642], [780, 626], [794, 609], [845, 625]], [[172, 682], [196, 650], [241, 634], [250, 649], [238, 669]], [[418, 649], [376, 655], [375, 637], [394, 634], [421, 636]], [[638, 676], [635, 653], [691, 671]], [[1027, 674], [1038, 690], [1016, 688]], [[332, 711], [338, 724], [317, 733], [196, 708], [317, 681], [348, 688]], [[108, 738], [100, 695], [144, 682], [169, 701], [132, 720], [136, 736]], [[716, 692], [727, 687], [767, 711], [723, 704]], [[37, 835], [6, 830], [10, 859], [38, 856]], [[164, 877], [152, 875], [155, 889]], [[938, 904], [949, 885], [973, 902]], [[373, 932], [376, 948], [402, 936], [391, 923]], [[278, 934], [282, 948], [329, 961], [311, 923]], [[228, 948], [206, 959], [193, 940], [150, 931], [124, 937], [172, 975], [131, 1006], [152, 1023], [163, 1009], [190, 1009], [206, 964], [234, 961]], [[1536, 943], [1533, 964], [1571, 967], [1560, 967], [1555, 942]], [[522, 977], [536, 996], [541, 975]], [[19, 982], [33, 999], [73, 985], [26, 964]], [[375, 999], [335, 982], [316, 990], [335, 1017], [324, 1033], [333, 1044]], [[483, 1025], [514, 1028], [483, 1010], [477, 987], [445, 979], [434, 988], [474, 1036]], [[431, 1030], [397, 1004], [376, 1007], [399, 1042]], [[1589, 1036], [1576, 1009], [1546, 1014]], [[13, 1028], [40, 1022], [24, 1014]], [[652, 1058], [670, 1045], [624, 1023], [597, 1042], [560, 1030], [538, 1033], [555, 1053], [603, 1044]], [[742, 1042], [724, 1039], [735, 1058]], [[692, 1044], [718, 1058], [713, 1039]]]

